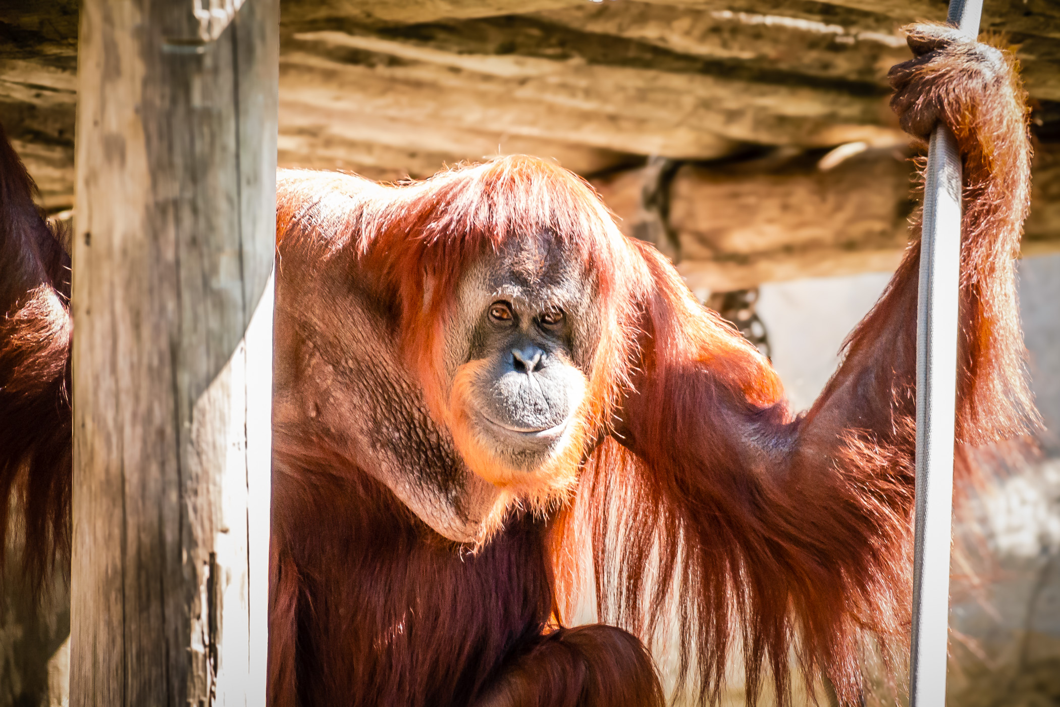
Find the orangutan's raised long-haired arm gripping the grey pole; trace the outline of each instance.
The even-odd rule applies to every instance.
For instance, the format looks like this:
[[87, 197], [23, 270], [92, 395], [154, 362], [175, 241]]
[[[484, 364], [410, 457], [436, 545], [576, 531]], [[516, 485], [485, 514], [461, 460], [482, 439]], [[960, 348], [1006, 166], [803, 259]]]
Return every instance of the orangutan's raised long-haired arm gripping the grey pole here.
[[[918, 138], [941, 120], [960, 147], [956, 435], [983, 444], [1036, 420], [1013, 280], [1029, 194], [1025, 94], [999, 50], [941, 25], [911, 30], [918, 57], [891, 71], [893, 106]], [[704, 696], [717, 695], [736, 625], [749, 693], [767, 667], [787, 694], [794, 650], [805, 678], [824, 673], [853, 700], [864, 639], [898, 646], [907, 628], [919, 243], [798, 419], [764, 361], [695, 313], [671, 268], [646, 259], [657, 287], [618, 439], [641, 484], [622, 493], [653, 509], [641, 517], [655, 525], [628, 533], [626, 556], [657, 547], [664, 585], [679, 580], [682, 605], [691, 606], [683, 666], [697, 654]], [[959, 458], [958, 473], [969, 473]], [[644, 604], [629, 597], [643, 596], [647, 572], [626, 565], [615, 578], [626, 599], [614, 613], [629, 620]]]

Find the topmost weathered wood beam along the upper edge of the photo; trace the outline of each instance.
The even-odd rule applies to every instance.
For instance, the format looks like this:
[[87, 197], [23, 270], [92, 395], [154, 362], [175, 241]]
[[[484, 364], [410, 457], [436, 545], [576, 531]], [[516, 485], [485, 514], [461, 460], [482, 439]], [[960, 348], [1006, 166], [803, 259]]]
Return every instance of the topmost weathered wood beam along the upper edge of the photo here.
[[[1004, 33], [1019, 46], [1031, 94], [1044, 100], [1060, 100], [1060, 43], [1055, 41], [1060, 37], [1060, 5], [1052, 0], [988, 0], [986, 5], [984, 30]], [[350, 20], [354, 26], [363, 28], [429, 28], [465, 21], [466, 38], [472, 42], [477, 34], [475, 20], [504, 15], [533, 16], [589, 34], [638, 39], [677, 54], [728, 58], [732, 60], [730, 70], [754, 65], [760, 52], [774, 70], [817, 75], [820, 71], [827, 74], [829, 67], [847, 61], [856, 64], [858, 54], [864, 55], [864, 64], [870, 64], [871, 56], [879, 50], [872, 47], [873, 43], [901, 49], [897, 30], [916, 20], [944, 19], [946, 4], [932, 0], [881, 3], [874, 0], [623, 0], [601, 3], [531, 0], [522, 4], [512, 0], [418, 0], [407, 3], [306, 0], [284, 5], [284, 22], [289, 26], [316, 21], [318, 26], [320, 22], [329, 22], [337, 29], [344, 20]], [[642, 21], [628, 21], [638, 15]], [[790, 42], [785, 37], [785, 34], [799, 33], [806, 37], [801, 42]], [[552, 30], [546, 34], [554, 43], [552, 35], [556, 32]], [[583, 38], [577, 45], [586, 42], [591, 43], [591, 38]], [[758, 43], [761, 50], [756, 51]], [[806, 46], [799, 47], [799, 43]], [[523, 48], [516, 45], [515, 53], [522, 52]], [[889, 58], [882, 57], [874, 67], [872, 79], [880, 83], [890, 64]], [[847, 78], [864, 77], [870, 72], [863, 69], [861, 76], [851, 73]]]

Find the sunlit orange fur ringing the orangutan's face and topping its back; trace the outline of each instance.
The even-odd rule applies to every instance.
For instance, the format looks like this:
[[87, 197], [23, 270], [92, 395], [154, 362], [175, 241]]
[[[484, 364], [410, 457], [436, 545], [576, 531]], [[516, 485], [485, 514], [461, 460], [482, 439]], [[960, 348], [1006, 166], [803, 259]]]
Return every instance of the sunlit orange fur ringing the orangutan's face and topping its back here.
[[[512, 506], [543, 511], [565, 500], [581, 462], [598, 436], [610, 429], [621, 391], [629, 387], [630, 363], [638, 346], [637, 297], [632, 293], [648, 281], [637, 248], [621, 235], [591, 188], [546, 160], [512, 157], [400, 187], [358, 182], [363, 180], [338, 175], [284, 173], [281, 237], [328, 234], [326, 243], [318, 245], [326, 257], [329, 250], [354, 245], [332, 234], [355, 234], [368, 269], [381, 276], [382, 297], [399, 303], [401, 349], [463, 461], [501, 485]], [[312, 195], [328, 188], [350, 194], [340, 210], [313, 202]], [[305, 204], [314, 204], [310, 214]], [[498, 463], [490, 445], [469, 429], [464, 386], [476, 363], [463, 364], [452, 382], [445, 379], [445, 328], [456, 316], [454, 294], [460, 278], [480, 255], [499, 250], [508, 240], [540, 233], [554, 234], [565, 252], [584, 259], [585, 269], [596, 278], [596, 315], [604, 324], [589, 352], [583, 403], [569, 431], [547, 464], [527, 473]], [[500, 508], [492, 518], [499, 523], [506, 512]]]

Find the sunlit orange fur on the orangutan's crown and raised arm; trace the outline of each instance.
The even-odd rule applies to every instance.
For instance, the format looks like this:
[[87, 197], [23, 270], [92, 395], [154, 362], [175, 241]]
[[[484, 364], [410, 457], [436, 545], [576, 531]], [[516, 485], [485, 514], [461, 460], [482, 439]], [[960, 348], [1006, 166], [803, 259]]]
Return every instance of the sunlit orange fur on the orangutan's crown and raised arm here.
[[[977, 60], [920, 61], [898, 86], [900, 99], [938, 96], [966, 155], [957, 434], [982, 444], [1026, 431], [1035, 413], [1012, 270], [1028, 198], [1026, 112], [1010, 67], [984, 81]], [[805, 681], [827, 675], [847, 701], [860, 693], [867, 643], [891, 669], [904, 664], [916, 241], [820, 399], [796, 418], [767, 361], [658, 253], [620, 236], [584, 183], [546, 161], [500, 158], [367, 204], [372, 219], [352, 230], [402, 302], [404, 350], [435, 410], [447, 400], [442, 295], [483, 247], [547, 230], [599, 275], [585, 427], [589, 439], [614, 436], [591, 450], [576, 502], [553, 524], [562, 587], [577, 586], [568, 566], [583, 555], [570, 544], [587, 537], [601, 618], [647, 639], [673, 617], [682, 675], [707, 702], [720, 697], [737, 644], [753, 699], [765, 675], [788, 699], [793, 652]], [[444, 283], [426, 306], [424, 270]], [[958, 458], [958, 478], [970, 478]]]

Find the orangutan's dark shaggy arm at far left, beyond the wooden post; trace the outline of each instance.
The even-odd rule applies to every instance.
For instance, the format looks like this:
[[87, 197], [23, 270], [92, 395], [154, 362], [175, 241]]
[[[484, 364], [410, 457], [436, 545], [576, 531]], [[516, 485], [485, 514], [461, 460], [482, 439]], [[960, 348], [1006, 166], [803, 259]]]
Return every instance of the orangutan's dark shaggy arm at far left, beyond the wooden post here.
[[21, 523], [22, 571], [39, 590], [70, 554], [72, 324], [70, 259], [35, 191], [0, 127], [0, 547]]

